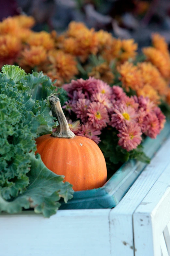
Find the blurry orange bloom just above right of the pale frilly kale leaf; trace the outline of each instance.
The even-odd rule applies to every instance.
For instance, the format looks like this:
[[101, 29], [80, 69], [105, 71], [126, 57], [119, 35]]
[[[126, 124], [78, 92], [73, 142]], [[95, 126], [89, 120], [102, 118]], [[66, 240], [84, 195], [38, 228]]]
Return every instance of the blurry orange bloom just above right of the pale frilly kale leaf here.
[[31, 46], [21, 52], [19, 64], [21, 67], [29, 66], [31, 68], [42, 65], [47, 60], [47, 53], [43, 46]]

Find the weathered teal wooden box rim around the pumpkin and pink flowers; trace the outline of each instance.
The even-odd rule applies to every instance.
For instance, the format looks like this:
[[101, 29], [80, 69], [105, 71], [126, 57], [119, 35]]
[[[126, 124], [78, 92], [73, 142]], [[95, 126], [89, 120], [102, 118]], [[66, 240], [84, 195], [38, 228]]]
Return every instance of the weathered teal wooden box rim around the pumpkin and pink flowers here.
[[[144, 152], [147, 156], [152, 158], [169, 135], [170, 122], [166, 122], [164, 129], [156, 139], [147, 138], [144, 141]], [[146, 165], [146, 163], [135, 160], [124, 163], [103, 187], [74, 192], [73, 198], [68, 203], [65, 204], [62, 201], [60, 209], [106, 209], [115, 207]]]

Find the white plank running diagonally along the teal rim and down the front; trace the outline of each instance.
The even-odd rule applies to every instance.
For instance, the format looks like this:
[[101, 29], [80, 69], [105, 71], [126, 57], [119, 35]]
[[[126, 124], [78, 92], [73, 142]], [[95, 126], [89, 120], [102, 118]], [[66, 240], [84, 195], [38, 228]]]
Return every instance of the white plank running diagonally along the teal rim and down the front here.
[[116, 251], [119, 252], [120, 255], [134, 256], [132, 215], [170, 162], [169, 145], [170, 138], [167, 139], [160, 150], [156, 153], [155, 157], [151, 160], [151, 163], [141, 173], [120, 203], [111, 210], [111, 255], [115, 256]]

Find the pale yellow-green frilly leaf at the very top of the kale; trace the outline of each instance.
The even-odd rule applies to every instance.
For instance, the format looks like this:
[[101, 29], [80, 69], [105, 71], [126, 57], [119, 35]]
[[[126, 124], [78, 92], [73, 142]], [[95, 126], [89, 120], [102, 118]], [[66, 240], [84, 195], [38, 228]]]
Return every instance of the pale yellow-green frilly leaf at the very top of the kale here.
[[5, 65], [2, 67], [2, 73], [6, 74], [7, 78], [13, 79], [16, 83], [25, 77], [26, 73], [23, 69], [15, 65]]

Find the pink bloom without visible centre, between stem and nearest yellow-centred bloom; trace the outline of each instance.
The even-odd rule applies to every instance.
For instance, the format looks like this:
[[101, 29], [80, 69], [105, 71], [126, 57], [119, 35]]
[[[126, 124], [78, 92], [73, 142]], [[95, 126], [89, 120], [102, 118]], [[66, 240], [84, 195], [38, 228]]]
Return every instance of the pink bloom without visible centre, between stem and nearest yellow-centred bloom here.
[[87, 109], [89, 105], [90, 105], [89, 99], [79, 99], [76, 104], [75, 113], [77, 114], [77, 118], [80, 118], [82, 122], [85, 122], [88, 118]]

